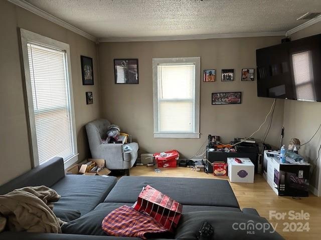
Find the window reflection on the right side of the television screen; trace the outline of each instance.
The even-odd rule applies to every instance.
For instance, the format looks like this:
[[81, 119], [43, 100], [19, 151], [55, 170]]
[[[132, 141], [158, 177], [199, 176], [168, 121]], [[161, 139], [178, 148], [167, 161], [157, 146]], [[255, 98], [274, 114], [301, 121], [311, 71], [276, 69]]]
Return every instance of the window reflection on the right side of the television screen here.
[[315, 100], [310, 51], [292, 54], [297, 99]]

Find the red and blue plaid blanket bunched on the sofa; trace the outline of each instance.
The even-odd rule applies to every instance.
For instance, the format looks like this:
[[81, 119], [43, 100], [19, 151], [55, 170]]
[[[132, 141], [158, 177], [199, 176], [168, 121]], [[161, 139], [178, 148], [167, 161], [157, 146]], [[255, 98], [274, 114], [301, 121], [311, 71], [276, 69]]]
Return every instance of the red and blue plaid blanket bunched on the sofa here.
[[101, 227], [108, 235], [133, 236], [143, 239], [151, 237], [151, 234], [168, 231], [151, 216], [126, 205], [118, 207], [105, 216]]

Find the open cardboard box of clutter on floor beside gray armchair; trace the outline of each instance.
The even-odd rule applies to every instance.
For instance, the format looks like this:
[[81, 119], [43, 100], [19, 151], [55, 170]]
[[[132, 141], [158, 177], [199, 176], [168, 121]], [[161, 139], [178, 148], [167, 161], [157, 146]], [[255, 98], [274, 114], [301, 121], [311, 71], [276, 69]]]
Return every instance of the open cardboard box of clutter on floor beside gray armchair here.
[[[76, 164], [67, 169], [67, 174], [108, 175], [111, 171], [105, 167], [104, 159], [88, 159], [88, 162]], [[92, 170], [92, 169], [95, 170]]]

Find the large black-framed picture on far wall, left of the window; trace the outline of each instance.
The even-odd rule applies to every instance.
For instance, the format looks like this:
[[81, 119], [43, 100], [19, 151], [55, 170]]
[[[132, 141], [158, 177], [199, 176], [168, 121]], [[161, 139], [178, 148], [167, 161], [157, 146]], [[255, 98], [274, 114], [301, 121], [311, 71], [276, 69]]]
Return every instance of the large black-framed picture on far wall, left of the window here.
[[115, 83], [138, 84], [138, 59], [114, 59]]

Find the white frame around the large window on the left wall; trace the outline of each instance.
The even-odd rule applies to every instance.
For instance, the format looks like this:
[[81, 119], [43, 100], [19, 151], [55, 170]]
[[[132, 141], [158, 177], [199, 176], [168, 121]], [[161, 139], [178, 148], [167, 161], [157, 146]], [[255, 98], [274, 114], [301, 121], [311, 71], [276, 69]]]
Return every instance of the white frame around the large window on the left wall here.
[[68, 100], [70, 103], [70, 117], [71, 117], [71, 132], [72, 132], [72, 150], [73, 155], [64, 159], [65, 169], [78, 161], [78, 150], [77, 150], [77, 136], [76, 136], [76, 124], [75, 124], [75, 111], [74, 111], [74, 101], [72, 92], [72, 80], [71, 80], [71, 65], [70, 65], [70, 47], [69, 44], [55, 39], [37, 34], [32, 31], [20, 28], [21, 34], [21, 44], [22, 44], [22, 55], [25, 70], [25, 81], [26, 81], [26, 91], [27, 91], [27, 101], [28, 101], [28, 112], [29, 112], [29, 126], [31, 135], [31, 145], [32, 145], [32, 158], [33, 167], [39, 165], [39, 155], [38, 155], [38, 144], [36, 135], [36, 122], [34, 115], [34, 103], [32, 96], [31, 87], [31, 76], [29, 67], [29, 55], [28, 55], [28, 43], [38, 44], [49, 48], [54, 48], [58, 50], [65, 51], [66, 53], [66, 76], [67, 76], [67, 88], [68, 88]]

